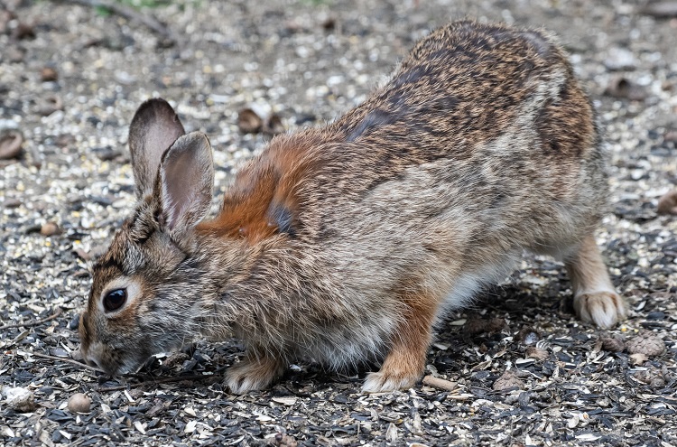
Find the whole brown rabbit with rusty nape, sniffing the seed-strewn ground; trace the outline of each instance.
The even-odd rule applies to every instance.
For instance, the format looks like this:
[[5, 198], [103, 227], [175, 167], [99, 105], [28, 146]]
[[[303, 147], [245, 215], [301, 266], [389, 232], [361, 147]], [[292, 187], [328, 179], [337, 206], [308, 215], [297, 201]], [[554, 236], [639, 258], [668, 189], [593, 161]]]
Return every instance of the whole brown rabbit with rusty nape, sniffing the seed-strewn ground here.
[[236, 337], [235, 394], [298, 359], [380, 364], [364, 392], [408, 388], [445, 313], [524, 250], [563, 262], [580, 320], [626, 316], [593, 236], [607, 206], [595, 112], [543, 31], [430, 33], [360, 106], [274, 137], [213, 219], [206, 135], [154, 98], [129, 147], [138, 204], [93, 265], [79, 325], [83, 358], [111, 375]]

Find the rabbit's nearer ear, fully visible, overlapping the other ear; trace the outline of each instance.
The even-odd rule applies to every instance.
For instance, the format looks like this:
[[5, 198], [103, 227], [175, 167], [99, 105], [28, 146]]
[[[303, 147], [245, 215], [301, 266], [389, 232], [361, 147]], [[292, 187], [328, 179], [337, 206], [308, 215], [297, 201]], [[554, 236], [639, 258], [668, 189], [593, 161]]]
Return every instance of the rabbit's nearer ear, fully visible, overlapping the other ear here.
[[162, 155], [154, 194], [160, 202], [160, 224], [176, 240], [209, 212], [214, 163], [207, 135], [180, 136]]

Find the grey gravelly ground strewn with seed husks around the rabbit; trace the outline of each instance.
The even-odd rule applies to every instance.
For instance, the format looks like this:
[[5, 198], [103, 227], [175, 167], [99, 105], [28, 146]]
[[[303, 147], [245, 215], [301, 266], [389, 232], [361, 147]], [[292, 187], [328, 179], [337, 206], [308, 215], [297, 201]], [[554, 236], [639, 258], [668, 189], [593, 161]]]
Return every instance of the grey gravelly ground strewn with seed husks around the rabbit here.
[[[659, 208], [677, 183], [677, 5], [202, 0], [125, 16], [4, 1], [0, 444], [677, 445], [677, 211], [668, 196]], [[238, 111], [319, 125], [432, 27], [466, 16], [544, 26], [570, 51], [607, 132], [612, 212], [598, 242], [628, 320], [580, 324], [561, 265], [530, 258], [450, 315], [407, 392], [362, 395], [364, 372], [295, 365], [270, 390], [232, 396], [220, 377], [236, 341], [125, 377], [77, 362], [88, 265], [134, 203], [125, 143], [144, 99], [169, 99], [187, 131], [209, 135], [223, 189], [269, 138], [241, 132]]]

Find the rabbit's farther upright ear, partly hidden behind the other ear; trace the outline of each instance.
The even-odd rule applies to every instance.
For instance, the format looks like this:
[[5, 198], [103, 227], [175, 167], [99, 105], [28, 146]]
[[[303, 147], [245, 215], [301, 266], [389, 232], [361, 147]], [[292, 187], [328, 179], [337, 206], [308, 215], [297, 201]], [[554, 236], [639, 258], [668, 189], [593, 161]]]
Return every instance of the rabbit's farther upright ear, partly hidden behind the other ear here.
[[164, 99], [149, 99], [136, 110], [129, 126], [129, 151], [137, 199], [153, 192], [162, 154], [183, 134], [179, 116]]

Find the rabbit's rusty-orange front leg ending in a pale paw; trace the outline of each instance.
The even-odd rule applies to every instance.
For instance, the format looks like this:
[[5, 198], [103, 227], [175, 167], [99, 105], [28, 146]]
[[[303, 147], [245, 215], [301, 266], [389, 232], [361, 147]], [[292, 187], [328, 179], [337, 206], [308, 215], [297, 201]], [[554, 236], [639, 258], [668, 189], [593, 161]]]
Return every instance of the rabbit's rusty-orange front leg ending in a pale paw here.
[[395, 326], [391, 348], [378, 372], [369, 373], [362, 391], [382, 393], [412, 387], [425, 368], [437, 303], [429, 295], [407, 296], [402, 320]]

